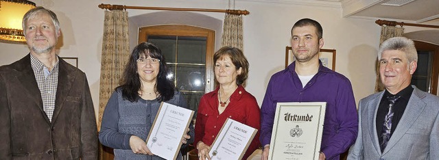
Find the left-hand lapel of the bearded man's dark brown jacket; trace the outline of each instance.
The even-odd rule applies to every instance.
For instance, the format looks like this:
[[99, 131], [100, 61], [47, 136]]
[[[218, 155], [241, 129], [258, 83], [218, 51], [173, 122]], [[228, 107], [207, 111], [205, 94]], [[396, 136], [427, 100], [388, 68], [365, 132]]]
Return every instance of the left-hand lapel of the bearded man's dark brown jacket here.
[[34, 70], [32, 70], [32, 65], [30, 64], [30, 55], [27, 55], [20, 60], [20, 64], [17, 66], [16, 70], [21, 72], [21, 74], [16, 75], [15, 78], [19, 81], [25, 90], [27, 97], [31, 98], [32, 101], [36, 103], [38, 109], [40, 109], [42, 116], [45, 118], [47, 123], [50, 123], [47, 114], [43, 109], [43, 100], [41, 99], [41, 92], [38, 88], [38, 83], [36, 83]]

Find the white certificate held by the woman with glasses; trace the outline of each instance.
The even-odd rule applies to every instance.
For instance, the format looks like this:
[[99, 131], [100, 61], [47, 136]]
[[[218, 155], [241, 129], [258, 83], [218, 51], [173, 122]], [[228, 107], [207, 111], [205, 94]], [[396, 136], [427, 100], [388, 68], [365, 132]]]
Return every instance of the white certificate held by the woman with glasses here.
[[193, 111], [189, 109], [162, 103], [146, 139], [146, 146], [154, 155], [176, 159], [192, 116]]

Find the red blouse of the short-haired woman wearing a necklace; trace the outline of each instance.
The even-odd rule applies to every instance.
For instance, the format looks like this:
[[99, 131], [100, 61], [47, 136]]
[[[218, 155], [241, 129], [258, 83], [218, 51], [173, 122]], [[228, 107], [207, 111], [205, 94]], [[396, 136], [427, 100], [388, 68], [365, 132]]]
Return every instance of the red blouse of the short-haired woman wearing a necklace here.
[[222, 114], [219, 114], [218, 90], [219, 88], [201, 97], [195, 122], [195, 141], [193, 144], [196, 146], [198, 142], [202, 141], [204, 144], [211, 146], [226, 119], [231, 118], [258, 130], [243, 157], [243, 159], [247, 159], [260, 145], [259, 131], [261, 124], [259, 105], [256, 98], [239, 85], [237, 90], [230, 96], [230, 102], [226, 109]]

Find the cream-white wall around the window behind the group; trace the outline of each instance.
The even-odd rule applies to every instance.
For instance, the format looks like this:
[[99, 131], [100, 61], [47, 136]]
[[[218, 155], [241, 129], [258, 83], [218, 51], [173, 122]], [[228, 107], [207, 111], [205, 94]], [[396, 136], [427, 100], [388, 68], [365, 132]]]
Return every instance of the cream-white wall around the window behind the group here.
[[[99, 70], [102, 49], [104, 10], [100, 3], [174, 8], [226, 9], [219, 0], [131, 0], [66, 1], [34, 0], [37, 5], [58, 14], [62, 29], [61, 57], [78, 57], [79, 68], [86, 72], [97, 111]], [[188, 3], [190, 2], [190, 3]], [[355, 99], [372, 94], [375, 85], [375, 58], [380, 27], [372, 20], [342, 18], [341, 8], [297, 4], [237, 1], [236, 9], [248, 10], [244, 16], [244, 53], [250, 62], [247, 90], [261, 105], [266, 85], [274, 72], [283, 69], [285, 46], [290, 29], [300, 18], [313, 18], [323, 26], [324, 49], [337, 49], [336, 71], [351, 79]], [[128, 10], [136, 16], [152, 10]], [[198, 12], [224, 19], [222, 13]], [[137, 36], [137, 35], [130, 35]], [[0, 42], [0, 65], [10, 64], [29, 53], [25, 44]]]

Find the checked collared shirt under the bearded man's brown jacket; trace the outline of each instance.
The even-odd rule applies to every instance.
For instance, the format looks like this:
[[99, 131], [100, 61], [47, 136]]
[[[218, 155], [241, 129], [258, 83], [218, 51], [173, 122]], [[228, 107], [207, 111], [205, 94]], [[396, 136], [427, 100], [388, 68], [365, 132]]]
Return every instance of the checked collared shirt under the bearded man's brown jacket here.
[[52, 70], [44, 66], [43, 62], [30, 55], [30, 63], [34, 70], [36, 83], [40, 89], [41, 99], [43, 100], [43, 109], [47, 114], [50, 122], [55, 110], [56, 88], [58, 88], [58, 64], [59, 59]]

